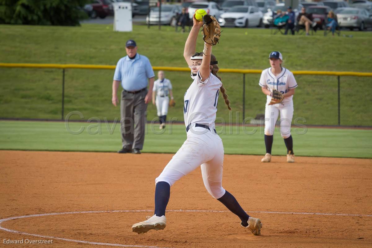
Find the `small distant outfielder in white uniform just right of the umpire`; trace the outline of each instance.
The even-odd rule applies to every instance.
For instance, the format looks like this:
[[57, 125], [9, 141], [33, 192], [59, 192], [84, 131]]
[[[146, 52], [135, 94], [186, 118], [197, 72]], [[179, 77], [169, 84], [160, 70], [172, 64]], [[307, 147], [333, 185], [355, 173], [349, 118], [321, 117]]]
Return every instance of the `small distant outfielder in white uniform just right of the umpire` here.
[[156, 104], [157, 114], [160, 121], [159, 129], [165, 128], [169, 106], [168, 95], [170, 95], [170, 99], [173, 99], [172, 84], [169, 79], [164, 78], [164, 71], [159, 71], [158, 80], [154, 82], [153, 88], [153, 104]]

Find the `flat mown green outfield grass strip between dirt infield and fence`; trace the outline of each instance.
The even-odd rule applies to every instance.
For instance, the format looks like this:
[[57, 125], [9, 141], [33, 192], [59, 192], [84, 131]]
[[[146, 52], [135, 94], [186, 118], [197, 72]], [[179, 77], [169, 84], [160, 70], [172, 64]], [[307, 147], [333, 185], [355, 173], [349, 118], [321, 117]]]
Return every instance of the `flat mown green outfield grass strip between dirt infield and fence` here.
[[[80, 132], [78, 132], [80, 130]], [[185, 126], [174, 124], [159, 130], [147, 125], [143, 152], [175, 153], [186, 139]], [[218, 127], [226, 154], [265, 153], [262, 128]], [[276, 130], [273, 155], [285, 155]], [[73, 134], [73, 132], [79, 134]], [[371, 130], [292, 127], [296, 156], [372, 158]], [[120, 125], [102, 122], [76, 123], [0, 121], [0, 149], [115, 152], [121, 148]]]

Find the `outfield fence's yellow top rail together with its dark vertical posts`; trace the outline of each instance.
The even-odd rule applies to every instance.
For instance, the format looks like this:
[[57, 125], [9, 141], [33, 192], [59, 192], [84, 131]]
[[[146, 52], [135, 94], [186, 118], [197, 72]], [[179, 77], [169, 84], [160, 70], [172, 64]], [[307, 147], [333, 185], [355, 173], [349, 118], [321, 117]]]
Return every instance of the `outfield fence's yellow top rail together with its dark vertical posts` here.
[[[94, 65], [94, 64], [28, 64], [28, 63], [0, 63], [0, 67], [9, 68], [53, 68], [62, 69], [62, 116], [64, 120], [64, 95], [65, 95], [65, 69], [103, 69], [115, 70], [116, 66]], [[168, 67], [168, 66], [153, 66], [154, 70], [163, 71], [190, 71], [185, 67]], [[249, 69], [219, 69], [221, 73], [240, 73], [243, 74], [243, 120], [245, 118], [245, 91], [246, 91], [246, 74], [260, 74], [262, 70]], [[372, 77], [370, 72], [354, 72], [354, 71], [292, 71], [295, 75], [325, 75], [337, 76], [338, 84], [338, 124], [340, 125], [340, 76], [356, 76], [356, 77]]]

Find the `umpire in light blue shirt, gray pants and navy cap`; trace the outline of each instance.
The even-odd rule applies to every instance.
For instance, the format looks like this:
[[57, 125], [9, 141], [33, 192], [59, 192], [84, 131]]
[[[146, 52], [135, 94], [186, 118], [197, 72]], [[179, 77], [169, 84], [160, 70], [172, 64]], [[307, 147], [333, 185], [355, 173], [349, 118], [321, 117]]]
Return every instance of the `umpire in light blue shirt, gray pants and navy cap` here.
[[[118, 153], [140, 154], [145, 140], [145, 111], [151, 102], [154, 71], [150, 60], [137, 53], [136, 42], [132, 39], [125, 44], [126, 56], [116, 64], [112, 82], [112, 104], [118, 101], [119, 83], [121, 92], [120, 114], [123, 147]], [[150, 85], [149, 85], [150, 84]], [[147, 86], [150, 86], [147, 89]]]

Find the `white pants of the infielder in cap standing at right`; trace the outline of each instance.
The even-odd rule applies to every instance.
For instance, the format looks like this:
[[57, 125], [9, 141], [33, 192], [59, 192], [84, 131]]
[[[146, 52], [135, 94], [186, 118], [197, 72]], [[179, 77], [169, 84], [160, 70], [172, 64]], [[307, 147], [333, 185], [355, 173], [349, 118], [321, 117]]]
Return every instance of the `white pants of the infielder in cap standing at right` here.
[[293, 102], [268, 105], [265, 107], [265, 134], [273, 135], [275, 123], [280, 113], [280, 134], [284, 139], [291, 136], [291, 123], [293, 117]]

